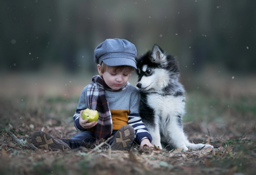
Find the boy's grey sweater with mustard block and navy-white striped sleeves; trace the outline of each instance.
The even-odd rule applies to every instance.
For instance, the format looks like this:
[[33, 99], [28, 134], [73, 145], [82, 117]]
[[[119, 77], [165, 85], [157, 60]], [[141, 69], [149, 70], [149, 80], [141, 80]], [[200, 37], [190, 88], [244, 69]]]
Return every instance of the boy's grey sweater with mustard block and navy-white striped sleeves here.
[[[89, 108], [87, 89], [88, 85], [83, 89], [80, 95], [79, 103], [75, 115], [73, 116], [75, 127], [79, 131], [86, 130], [79, 124], [79, 114], [81, 110]], [[135, 129], [135, 141], [138, 144], [140, 144], [141, 140], [144, 138], [148, 138], [150, 142], [152, 141], [150, 133], [148, 133], [147, 128], [139, 116], [138, 107], [140, 94], [133, 85], [130, 84], [125, 90], [119, 92], [105, 90], [105, 97], [109, 102], [110, 111], [112, 113], [113, 130], [117, 130], [122, 125], [130, 124]]]

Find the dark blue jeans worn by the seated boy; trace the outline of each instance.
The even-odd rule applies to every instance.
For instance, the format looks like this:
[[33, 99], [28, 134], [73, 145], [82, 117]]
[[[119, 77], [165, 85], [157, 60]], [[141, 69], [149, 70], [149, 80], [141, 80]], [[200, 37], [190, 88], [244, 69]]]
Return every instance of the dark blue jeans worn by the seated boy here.
[[[114, 137], [108, 142], [108, 144], [112, 144], [114, 142], [117, 130], [113, 130], [112, 136]], [[95, 142], [96, 138], [94, 137], [94, 133], [83, 131], [74, 135], [71, 139], [61, 139], [62, 141], [66, 142], [71, 149], [78, 148], [80, 146], [85, 146], [86, 143], [93, 143]]]

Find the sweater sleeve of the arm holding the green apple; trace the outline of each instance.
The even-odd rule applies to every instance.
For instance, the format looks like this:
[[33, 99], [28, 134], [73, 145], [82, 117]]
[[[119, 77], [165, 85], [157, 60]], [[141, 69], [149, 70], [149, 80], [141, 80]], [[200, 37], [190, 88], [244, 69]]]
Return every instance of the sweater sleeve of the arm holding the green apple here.
[[82, 130], [86, 130], [84, 129], [80, 124], [79, 124], [79, 116], [80, 116], [80, 111], [85, 110], [86, 108], [88, 108], [88, 103], [87, 103], [87, 89], [88, 87], [86, 86], [83, 90], [82, 93], [80, 95], [79, 98], [79, 102], [78, 102], [78, 106], [76, 108], [76, 112], [73, 116], [73, 120], [74, 120], [74, 125], [76, 127], [77, 130], [82, 131]]

